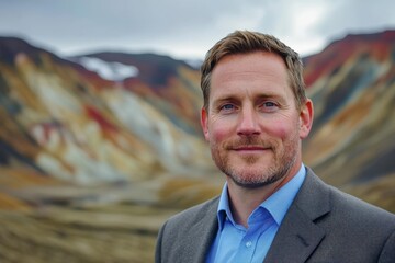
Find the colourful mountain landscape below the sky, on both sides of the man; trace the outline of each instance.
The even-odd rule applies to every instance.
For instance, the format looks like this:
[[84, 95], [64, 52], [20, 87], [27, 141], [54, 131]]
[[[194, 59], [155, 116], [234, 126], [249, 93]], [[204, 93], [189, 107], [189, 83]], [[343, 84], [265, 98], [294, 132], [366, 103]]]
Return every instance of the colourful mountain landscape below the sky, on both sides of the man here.
[[[304, 162], [395, 211], [395, 31], [349, 35], [304, 64]], [[151, 262], [165, 218], [224, 180], [200, 129], [199, 78], [167, 56], [60, 58], [0, 37], [0, 259]]]

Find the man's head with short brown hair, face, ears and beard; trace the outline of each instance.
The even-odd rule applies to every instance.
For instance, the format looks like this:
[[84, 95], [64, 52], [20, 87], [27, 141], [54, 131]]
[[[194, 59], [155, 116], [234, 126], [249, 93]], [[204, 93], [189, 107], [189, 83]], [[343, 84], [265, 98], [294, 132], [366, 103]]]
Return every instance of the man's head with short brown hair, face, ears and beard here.
[[291, 180], [313, 122], [297, 54], [272, 36], [235, 32], [207, 53], [201, 82], [204, 136], [229, 185]]

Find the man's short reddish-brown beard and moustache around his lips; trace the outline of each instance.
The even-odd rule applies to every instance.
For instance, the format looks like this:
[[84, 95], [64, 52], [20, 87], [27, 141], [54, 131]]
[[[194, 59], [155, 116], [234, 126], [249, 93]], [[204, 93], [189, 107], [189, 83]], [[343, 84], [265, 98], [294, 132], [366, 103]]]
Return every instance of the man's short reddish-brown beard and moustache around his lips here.
[[[247, 155], [244, 157], [236, 157], [241, 160], [235, 162], [230, 159], [235, 148], [241, 146], [260, 146], [271, 152], [264, 155], [272, 155], [271, 160], [266, 160], [267, 164], [261, 163], [261, 156]], [[285, 175], [287, 175], [293, 168], [300, 150], [300, 138], [293, 134], [283, 144], [276, 140], [262, 140], [256, 136], [242, 137], [237, 141], [229, 141], [223, 146], [214, 145], [211, 147], [212, 157], [218, 169], [230, 178], [237, 185], [246, 188], [258, 188], [264, 185], [272, 184]]]

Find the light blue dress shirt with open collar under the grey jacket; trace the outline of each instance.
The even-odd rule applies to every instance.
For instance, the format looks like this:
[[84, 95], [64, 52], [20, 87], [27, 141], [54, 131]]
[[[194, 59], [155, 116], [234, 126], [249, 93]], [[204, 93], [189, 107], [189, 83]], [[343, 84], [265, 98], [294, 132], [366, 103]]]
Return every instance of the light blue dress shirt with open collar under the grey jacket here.
[[218, 231], [207, 263], [262, 263], [287, 209], [306, 176], [302, 164], [297, 174], [272, 194], [248, 217], [248, 228], [235, 222], [229, 208], [227, 184], [222, 191], [217, 210]]

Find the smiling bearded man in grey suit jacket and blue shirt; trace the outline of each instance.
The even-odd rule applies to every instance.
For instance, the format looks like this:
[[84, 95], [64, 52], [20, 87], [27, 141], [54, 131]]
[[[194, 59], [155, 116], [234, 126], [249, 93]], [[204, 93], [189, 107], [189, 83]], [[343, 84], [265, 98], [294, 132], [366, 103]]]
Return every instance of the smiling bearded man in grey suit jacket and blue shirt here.
[[270, 35], [237, 31], [208, 50], [201, 124], [226, 183], [165, 224], [156, 262], [395, 262], [395, 216], [302, 162], [313, 123], [302, 71]]

